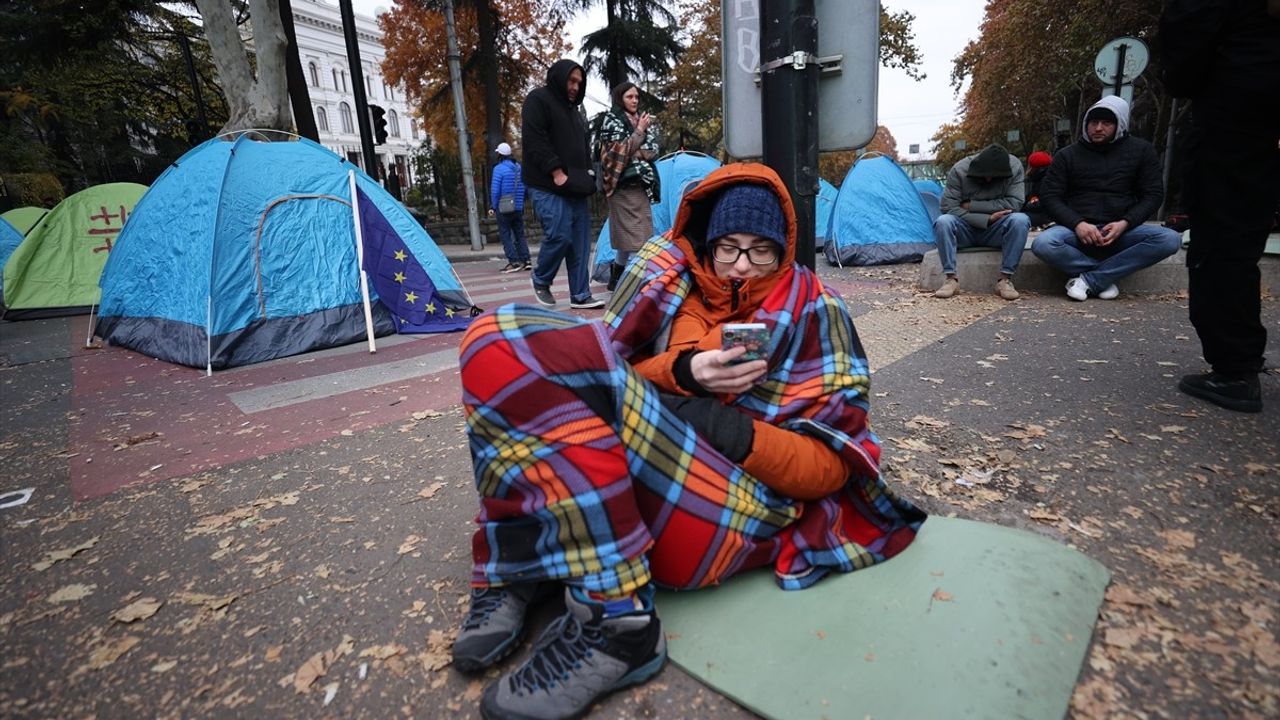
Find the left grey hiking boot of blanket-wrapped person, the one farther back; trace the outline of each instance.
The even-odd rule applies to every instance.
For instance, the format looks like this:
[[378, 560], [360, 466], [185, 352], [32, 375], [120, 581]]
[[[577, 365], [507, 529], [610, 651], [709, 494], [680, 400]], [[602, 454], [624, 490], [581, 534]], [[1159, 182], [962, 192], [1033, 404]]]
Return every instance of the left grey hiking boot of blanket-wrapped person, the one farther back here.
[[[545, 594], [544, 583], [471, 588], [471, 607], [453, 641], [453, 666], [479, 673], [520, 646], [529, 606]], [[547, 588], [552, 585], [545, 585]]]

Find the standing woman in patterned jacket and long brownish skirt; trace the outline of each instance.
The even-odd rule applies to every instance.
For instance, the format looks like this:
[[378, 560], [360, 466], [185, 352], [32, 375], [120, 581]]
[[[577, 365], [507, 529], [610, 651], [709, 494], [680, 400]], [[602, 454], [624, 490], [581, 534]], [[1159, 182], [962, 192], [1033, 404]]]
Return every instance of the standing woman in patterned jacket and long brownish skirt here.
[[600, 114], [600, 169], [609, 201], [609, 292], [617, 288], [631, 254], [653, 237], [653, 210], [658, 202], [658, 126], [640, 111], [640, 88], [622, 82], [613, 88], [613, 108]]

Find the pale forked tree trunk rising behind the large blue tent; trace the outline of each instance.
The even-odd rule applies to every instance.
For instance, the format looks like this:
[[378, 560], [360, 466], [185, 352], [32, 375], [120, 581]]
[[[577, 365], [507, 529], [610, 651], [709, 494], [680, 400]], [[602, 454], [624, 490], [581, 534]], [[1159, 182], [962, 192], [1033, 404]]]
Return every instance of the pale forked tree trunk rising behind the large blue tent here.
[[225, 0], [196, 0], [205, 22], [205, 37], [218, 68], [229, 117], [223, 132], [247, 128], [293, 129], [288, 82], [284, 73], [288, 40], [280, 23], [278, 0], [248, 0], [253, 23], [257, 78], [236, 27], [232, 4]]

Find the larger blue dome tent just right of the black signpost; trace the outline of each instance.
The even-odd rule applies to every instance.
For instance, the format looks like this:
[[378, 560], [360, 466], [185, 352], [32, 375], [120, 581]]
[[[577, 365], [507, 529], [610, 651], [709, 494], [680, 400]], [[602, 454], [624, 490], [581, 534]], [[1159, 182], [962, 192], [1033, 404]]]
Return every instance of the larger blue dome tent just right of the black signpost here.
[[920, 193], [897, 163], [864, 155], [840, 184], [831, 236], [832, 265], [919, 263], [933, 249], [933, 224]]

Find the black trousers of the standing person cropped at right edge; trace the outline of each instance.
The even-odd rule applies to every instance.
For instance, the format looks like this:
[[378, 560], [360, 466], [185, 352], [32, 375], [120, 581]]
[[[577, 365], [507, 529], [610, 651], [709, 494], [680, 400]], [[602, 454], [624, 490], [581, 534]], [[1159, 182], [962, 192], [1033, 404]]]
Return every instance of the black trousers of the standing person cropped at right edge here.
[[1265, 366], [1258, 260], [1280, 201], [1277, 136], [1275, 128], [1197, 123], [1190, 137], [1185, 183], [1190, 320], [1204, 360], [1228, 375]]

